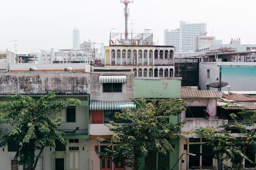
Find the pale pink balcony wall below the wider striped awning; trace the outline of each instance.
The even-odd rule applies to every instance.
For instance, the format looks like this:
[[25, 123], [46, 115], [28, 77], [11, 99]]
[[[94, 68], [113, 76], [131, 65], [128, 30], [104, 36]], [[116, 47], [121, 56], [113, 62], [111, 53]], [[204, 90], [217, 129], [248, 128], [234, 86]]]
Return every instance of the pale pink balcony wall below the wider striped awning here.
[[89, 134], [95, 136], [112, 135], [108, 127], [104, 124], [90, 124]]

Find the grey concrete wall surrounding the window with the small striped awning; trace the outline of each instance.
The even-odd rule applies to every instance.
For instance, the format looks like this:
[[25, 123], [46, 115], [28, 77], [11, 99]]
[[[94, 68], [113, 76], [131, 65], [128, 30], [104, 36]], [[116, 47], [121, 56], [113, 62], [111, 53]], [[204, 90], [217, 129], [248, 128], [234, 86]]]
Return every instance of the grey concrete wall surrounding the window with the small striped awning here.
[[[122, 85], [122, 92], [103, 92], [102, 83], [99, 83], [99, 76], [126, 76], [126, 82]], [[90, 101], [131, 101], [133, 97], [134, 78], [131, 72], [108, 72], [91, 74]]]

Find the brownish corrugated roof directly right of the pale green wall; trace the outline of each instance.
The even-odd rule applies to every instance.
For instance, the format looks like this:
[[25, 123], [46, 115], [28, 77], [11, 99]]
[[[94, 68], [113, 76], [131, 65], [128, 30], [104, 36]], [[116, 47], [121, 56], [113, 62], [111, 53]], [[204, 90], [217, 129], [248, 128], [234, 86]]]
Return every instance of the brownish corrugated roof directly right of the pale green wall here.
[[219, 98], [217, 90], [181, 90], [181, 98]]

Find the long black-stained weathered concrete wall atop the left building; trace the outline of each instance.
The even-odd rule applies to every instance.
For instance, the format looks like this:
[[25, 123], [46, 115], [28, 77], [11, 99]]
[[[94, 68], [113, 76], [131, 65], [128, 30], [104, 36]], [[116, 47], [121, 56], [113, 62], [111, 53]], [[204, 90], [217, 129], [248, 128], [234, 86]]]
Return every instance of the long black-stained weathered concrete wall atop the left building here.
[[0, 94], [88, 94], [90, 73], [0, 73]]

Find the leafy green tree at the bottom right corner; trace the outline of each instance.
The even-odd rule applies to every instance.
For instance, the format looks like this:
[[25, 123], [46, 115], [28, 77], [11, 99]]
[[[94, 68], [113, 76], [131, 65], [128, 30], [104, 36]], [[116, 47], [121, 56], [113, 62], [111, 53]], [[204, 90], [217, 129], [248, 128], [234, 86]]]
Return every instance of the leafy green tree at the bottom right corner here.
[[[244, 122], [237, 122], [237, 115], [243, 118]], [[255, 160], [246, 157], [248, 147], [255, 148], [255, 110], [241, 110], [235, 115], [230, 114], [233, 122], [220, 125], [216, 129], [200, 128], [196, 130], [197, 134], [207, 139], [206, 145], [213, 149], [214, 157], [218, 162], [218, 169], [221, 169], [221, 160], [229, 159], [230, 169], [242, 169], [243, 159], [255, 164]], [[253, 150], [255, 153], [255, 149]], [[228, 166], [225, 165], [226, 169]]]

